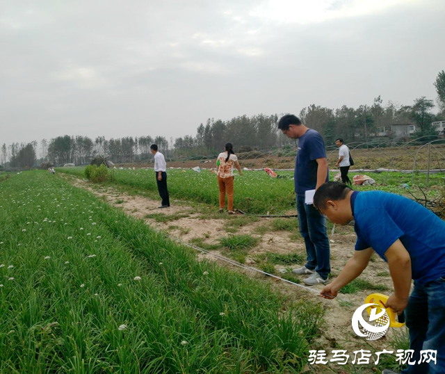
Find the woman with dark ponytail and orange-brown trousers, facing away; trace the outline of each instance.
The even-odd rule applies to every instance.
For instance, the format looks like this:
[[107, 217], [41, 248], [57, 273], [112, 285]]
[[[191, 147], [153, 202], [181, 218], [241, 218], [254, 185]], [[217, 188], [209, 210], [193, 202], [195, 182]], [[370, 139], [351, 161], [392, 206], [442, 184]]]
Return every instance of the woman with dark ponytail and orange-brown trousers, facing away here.
[[225, 152], [218, 155], [216, 160], [216, 174], [218, 175], [218, 187], [220, 189], [220, 213], [225, 208], [225, 195], [227, 194], [227, 213], [234, 214], [234, 167], [243, 175], [238, 157], [235, 156], [232, 143], [225, 144]]

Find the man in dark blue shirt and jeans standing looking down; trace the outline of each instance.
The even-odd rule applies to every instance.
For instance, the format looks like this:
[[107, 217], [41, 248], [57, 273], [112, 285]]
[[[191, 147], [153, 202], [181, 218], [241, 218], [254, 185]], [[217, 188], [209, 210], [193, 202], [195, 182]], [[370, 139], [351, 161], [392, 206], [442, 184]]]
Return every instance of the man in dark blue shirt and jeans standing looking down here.
[[278, 128], [288, 138], [298, 139], [294, 183], [298, 224], [301, 236], [305, 239], [307, 262], [305, 266], [292, 271], [298, 275], [309, 275], [304, 280], [309, 286], [327, 284], [331, 268], [326, 218], [313, 204], [305, 203], [307, 190], [316, 190], [329, 180], [325, 143], [317, 131], [306, 127], [293, 114], [284, 115], [278, 122]]

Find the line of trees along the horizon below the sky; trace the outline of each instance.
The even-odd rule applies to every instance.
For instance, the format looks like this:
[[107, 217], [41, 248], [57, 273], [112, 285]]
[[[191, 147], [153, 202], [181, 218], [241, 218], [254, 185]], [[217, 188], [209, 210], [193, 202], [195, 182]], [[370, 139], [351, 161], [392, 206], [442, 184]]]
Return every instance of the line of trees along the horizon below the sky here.
[[[337, 138], [346, 143], [369, 142], [378, 132], [379, 127], [391, 124], [416, 124], [414, 138], [436, 136], [432, 122], [445, 120], [445, 72], [439, 72], [434, 83], [437, 91], [439, 111], [433, 113], [434, 101], [426, 97], [414, 100], [412, 105], [401, 105], [389, 101], [383, 105], [381, 97], [376, 97], [372, 105], [360, 105], [358, 108], [327, 108], [312, 104], [302, 108], [302, 122], [315, 129], [325, 139], [326, 145], [333, 145]], [[231, 120], [209, 118], [201, 123], [195, 136], [170, 138], [163, 136], [127, 136], [111, 138], [98, 136], [94, 140], [88, 136], [58, 136], [50, 140], [42, 139], [38, 143], [13, 143], [1, 146], [0, 162], [12, 168], [31, 168], [43, 162], [53, 165], [89, 163], [96, 155], [108, 156], [115, 163], [151, 160], [150, 145], [156, 143], [169, 158], [181, 156], [211, 156], [220, 152], [227, 141], [235, 145], [236, 150], [268, 150], [283, 147], [291, 142], [277, 130], [277, 121], [281, 115], [241, 115]], [[243, 148], [241, 148], [243, 147]]]

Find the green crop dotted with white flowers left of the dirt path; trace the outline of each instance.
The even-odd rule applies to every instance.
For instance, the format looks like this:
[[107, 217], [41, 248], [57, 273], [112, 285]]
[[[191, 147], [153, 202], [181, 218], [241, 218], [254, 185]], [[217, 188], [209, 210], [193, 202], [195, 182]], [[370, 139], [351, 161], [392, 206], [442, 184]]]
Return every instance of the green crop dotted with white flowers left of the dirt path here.
[[283, 311], [284, 298], [266, 285], [197, 261], [46, 172], [14, 175], [0, 184], [0, 201], [1, 373], [305, 366], [321, 322], [316, 304], [286, 301]]

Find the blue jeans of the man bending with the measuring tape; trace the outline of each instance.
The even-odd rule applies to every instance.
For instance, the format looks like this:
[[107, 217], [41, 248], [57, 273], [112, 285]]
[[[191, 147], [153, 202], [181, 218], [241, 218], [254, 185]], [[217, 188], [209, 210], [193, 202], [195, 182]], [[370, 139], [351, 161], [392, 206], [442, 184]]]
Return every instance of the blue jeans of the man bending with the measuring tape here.
[[445, 373], [445, 277], [427, 284], [414, 281], [405, 320], [410, 329], [410, 349], [414, 350], [411, 361], [419, 362], [421, 350], [437, 350], [437, 364], [408, 365], [402, 373]]

